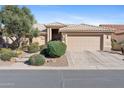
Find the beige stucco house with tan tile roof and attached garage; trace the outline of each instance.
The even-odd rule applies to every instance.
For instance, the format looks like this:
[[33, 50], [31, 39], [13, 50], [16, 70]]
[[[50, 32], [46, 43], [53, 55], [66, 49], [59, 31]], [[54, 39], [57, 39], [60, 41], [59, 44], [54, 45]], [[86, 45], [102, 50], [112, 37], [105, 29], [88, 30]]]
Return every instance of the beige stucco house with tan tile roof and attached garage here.
[[42, 39], [36, 41], [61, 40], [66, 43], [67, 51], [111, 49], [113, 29], [87, 24], [62, 24], [58, 22], [37, 25], [36, 27], [44, 28], [44, 30], [40, 30]]

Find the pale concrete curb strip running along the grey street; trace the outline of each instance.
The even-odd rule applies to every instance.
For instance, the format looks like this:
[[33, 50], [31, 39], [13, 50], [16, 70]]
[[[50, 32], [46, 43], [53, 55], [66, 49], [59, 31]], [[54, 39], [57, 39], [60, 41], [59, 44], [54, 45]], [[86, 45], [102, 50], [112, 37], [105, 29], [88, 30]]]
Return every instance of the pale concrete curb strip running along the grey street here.
[[101, 68], [80, 68], [80, 67], [0, 67], [0, 70], [124, 70], [124, 67], [101, 67]]

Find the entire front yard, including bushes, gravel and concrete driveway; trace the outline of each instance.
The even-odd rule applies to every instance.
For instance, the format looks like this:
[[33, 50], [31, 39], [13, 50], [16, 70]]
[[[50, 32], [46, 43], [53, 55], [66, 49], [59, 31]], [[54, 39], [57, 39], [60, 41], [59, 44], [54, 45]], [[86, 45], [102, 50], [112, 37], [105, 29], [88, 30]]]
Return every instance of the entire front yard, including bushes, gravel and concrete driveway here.
[[121, 52], [66, 51], [66, 45], [61, 41], [50, 41], [42, 46], [32, 43], [17, 50], [1, 48], [0, 59], [0, 68], [124, 69]]

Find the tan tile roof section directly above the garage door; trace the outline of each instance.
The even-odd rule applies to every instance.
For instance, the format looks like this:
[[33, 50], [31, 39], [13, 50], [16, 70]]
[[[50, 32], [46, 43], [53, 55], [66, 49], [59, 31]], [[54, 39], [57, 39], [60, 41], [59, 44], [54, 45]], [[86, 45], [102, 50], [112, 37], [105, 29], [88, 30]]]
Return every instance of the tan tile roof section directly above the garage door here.
[[60, 32], [113, 32], [114, 29], [88, 24], [71, 24], [60, 28]]

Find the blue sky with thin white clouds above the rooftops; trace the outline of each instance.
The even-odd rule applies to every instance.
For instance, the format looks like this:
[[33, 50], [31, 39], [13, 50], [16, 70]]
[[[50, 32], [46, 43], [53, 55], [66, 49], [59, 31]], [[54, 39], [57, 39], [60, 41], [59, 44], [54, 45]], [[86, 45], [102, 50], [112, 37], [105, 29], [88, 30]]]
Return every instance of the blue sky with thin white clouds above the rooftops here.
[[124, 6], [29, 5], [38, 23], [124, 24]]

